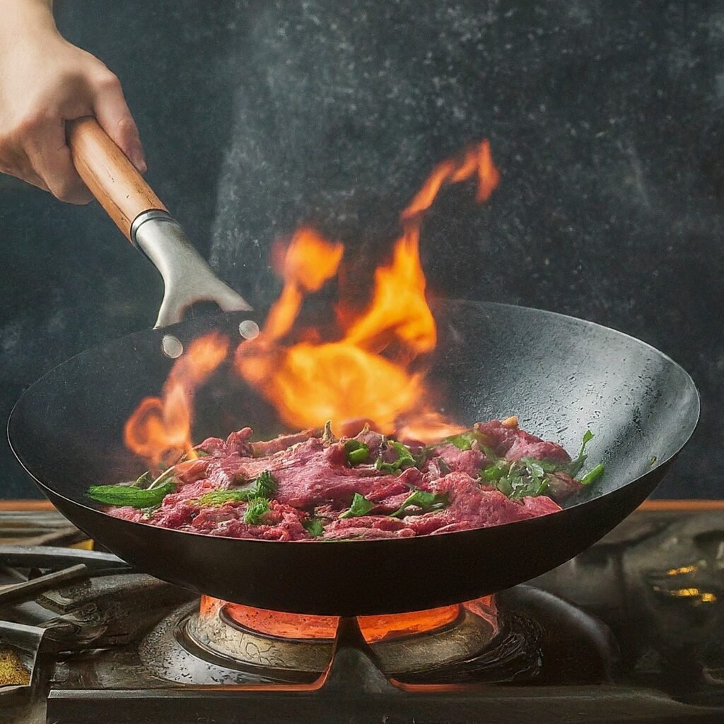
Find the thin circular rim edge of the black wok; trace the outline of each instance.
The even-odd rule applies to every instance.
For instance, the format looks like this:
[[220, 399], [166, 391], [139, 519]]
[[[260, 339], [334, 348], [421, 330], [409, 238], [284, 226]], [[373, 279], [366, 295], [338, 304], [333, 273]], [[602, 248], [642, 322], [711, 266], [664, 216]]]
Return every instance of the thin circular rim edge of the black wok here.
[[[476, 306], [481, 308], [481, 311], [483, 311], [485, 308], [510, 308], [515, 310], [523, 310], [525, 313], [542, 313], [547, 316], [553, 316], [553, 317], [560, 317], [563, 319], [567, 319], [570, 321], [573, 321], [576, 324], [583, 324], [588, 327], [593, 327], [594, 329], [601, 329], [607, 333], [613, 333], [615, 335], [618, 335], [619, 337], [628, 340], [630, 342], [634, 342], [636, 345], [641, 346], [642, 348], [645, 348], [649, 350], [649, 352], [653, 353], [657, 357], [665, 360], [668, 364], [673, 366], [673, 368], [678, 369], [678, 371], [683, 374], [683, 380], [685, 382], [685, 385], [683, 389], [689, 389], [691, 392], [694, 393], [692, 403], [695, 405], [695, 409], [693, 412], [695, 413], [691, 417], [691, 425], [690, 428], [686, 430], [686, 434], [682, 437], [682, 442], [678, 447], [675, 448], [672, 452], [669, 452], [668, 455], [662, 456], [662, 458], [657, 458], [656, 462], [650, 466], [649, 470], [647, 470], [645, 473], [642, 473], [641, 475], [637, 476], [634, 479], [631, 479], [629, 481], [626, 481], [625, 483], [621, 484], [620, 486], [616, 487], [613, 490], [610, 490], [608, 492], [605, 492], [601, 495], [597, 495], [596, 497], [589, 498], [588, 500], [579, 500], [578, 502], [574, 503], [573, 505], [568, 505], [565, 508], [562, 508], [561, 510], [555, 511], [555, 513], [548, 513], [547, 515], [558, 515], [560, 513], [565, 513], [568, 510], [573, 510], [575, 508], [581, 508], [584, 505], [589, 505], [592, 502], [595, 502], [596, 500], [599, 500], [599, 498], [603, 497], [609, 497], [612, 494], [615, 494], [616, 492], [620, 491], [623, 488], [629, 487], [631, 485], [634, 485], [638, 483], [639, 481], [642, 481], [644, 478], [649, 478], [651, 473], [656, 471], [658, 468], [661, 468], [662, 466], [669, 466], [670, 463], [673, 462], [674, 458], [683, 450], [684, 447], [689, 443], [689, 440], [691, 439], [692, 435], [696, 431], [696, 427], [699, 424], [699, 418], [701, 416], [702, 411], [702, 405], [701, 405], [701, 395], [699, 394], [699, 390], [696, 387], [696, 383], [694, 382], [694, 379], [691, 377], [688, 371], [681, 366], [678, 362], [676, 362], [673, 358], [671, 358], [666, 353], [662, 352], [661, 350], [655, 348], [653, 345], [649, 344], [649, 342], [644, 342], [643, 340], [639, 340], [638, 337], [633, 337], [633, 335], [628, 334], [626, 332], [621, 332], [619, 329], [614, 329], [613, 327], [606, 327], [604, 324], [599, 324], [598, 322], [590, 321], [589, 319], [581, 319], [580, 317], [573, 316], [571, 314], [564, 314], [561, 312], [555, 312], [550, 311], [548, 309], [541, 309], [537, 307], [529, 307], [529, 306], [522, 306], [517, 304], [510, 304], [510, 303], [504, 303], [504, 302], [489, 302], [489, 301], [481, 301], [481, 300], [469, 300], [469, 299], [449, 299], [449, 300], [438, 300], [437, 304], [433, 303], [431, 306], [433, 308], [433, 311], [436, 306], [439, 306], [442, 303], [442, 305], [454, 305], [454, 304], [463, 304], [468, 306]], [[232, 313], [223, 313], [218, 315], [211, 315], [204, 319], [208, 320], [209, 322], [213, 323], [214, 319], [230, 319], [234, 318], [236, 316], [245, 316], [248, 318], [249, 313], [248, 312], [232, 312]], [[43, 494], [45, 494], [45, 491], [50, 492], [55, 497], [59, 497], [65, 502], [69, 503], [72, 506], [75, 506], [76, 508], [82, 508], [83, 510], [88, 510], [92, 513], [97, 513], [99, 515], [104, 515], [108, 518], [112, 518], [114, 521], [117, 521], [118, 523], [128, 523], [132, 526], [144, 526], [146, 528], [152, 528], [152, 529], [160, 529], [161, 531], [167, 531], [167, 533], [173, 533], [173, 534], [183, 534], [187, 536], [199, 536], [203, 539], [209, 539], [209, 538], [224, 538], [227, 540], [239, 540], [244, 541], [247, 543], [254, 543], [254, 544], [290, 544], [290, 543], [313, 543], [313, 544], [336, 544], [336, 543], [345, 543], [348, 545], [356, 545], [358, 548], [369, 546], [370, 544], [377, 544], [377, 543], [383, 543], [383, 542], [389, 542], [390, 539], [385, 538], [379, 538], [379, 539], [332, 539], [332, 540], [303, 540], [303, 541], [279, 541], [279, 540], [265, 540], [265, 539], [258, 539], [258, 538], [233, 538], [231, 536], [209, 536], [209, 534], [205, 533], [197, 533], [195, 531], [182, 531], [179, 529], [170, 529], [170, 528], [164, 528], [163, 526], [148, 526], [146, 523], [136, 523], [135, 521], [126, 521], [122, 518], [117, 518], [114, 515], [110, 515], [110, 513], [106, 513], [104, 510], [100, 508], [93, 508], [90, 505], [87, 505], [85, 502], [81, 500], [75, 500], [72, 497], [67, 497], [67, 495], [63, 494], [59, 491], [59, 489], [56, 489], [54, 487], [51, 487], [49, 484], [44, 483], [40, 479], [38, 479], [33, 472], [31, 472], [28, 469], [28, 466], [25, 465], [22, 458], [20, 458], [19, 452], [15, 449], [15, 445], [13, 444], [13, 436], [12, 436], [12, 426], [13, 421], [15, 418], [15, 413], [17, 411], [17, 408], [22, 403], [22, 400], [26, 397], [26, 395], [29, 395], [33, 388], [35, 388], [38, 384], [41, 384], [43, 380], [45, 380], [47, 377], [54, 374], [54, 372], [59, 369], [60, 367], [64, 366], [67, 363], [70, 363], [71, 361], [82, 357], [85, 354], [93, 353], [93, 351], [100, 350], [104, 348], [106, 345], [112, 343], [112, 342], [122, 342], [124, 340], [130, 340], [131, 337], [135, 337], [135, 335], [145, 335], [148, 334], [148, 332], [159, 332], [159, 334], [169, 334], [172, 333], [173, 329], [177, 329], [178, 327], [181, 327], [182, 325], [188, 324], [188, 320], [178, 322], [177, 324], [169, 325], [168, 327], [162, 327], [161, 329], [141, 329], [137, 332], [130, 332], [129, 334], [125, 334], [123, 337], [116, 337], [113, 340], [107, 340], [106, 342], [100, 342], [97, 345], [93, 345], [93, 347], [90, 347], [88, 349], [85, 349], [75, 355], [72, 355], [72, 357], [68, 358], [67, 360], [62, 361], [61, 363], [57, 364], [53, 368], [51, 368], [49, 371], [47, 371], [45, 374], [43, 374], [41, 377], [35, 380], [30, 386], [22, 392], [22, 395], [17, 399], [16, 403], [12, 407], [12, 411], [9, 414], [8, 421], [7, 421], [7, 439], [9, 442], [10, 449], [12, 450], [12, 453], [17, 460], [18, 463], [20, 463], [20, 466], [25, 471], [25, 473], [30, 476], [30, 479], [33, 480], [35, 485], [37, 485]], [[662, 476], [665, 474], [665, 471], [662, 471]], [[48, 496], [46, 495], [46, 498]], [[545, 518], [547, 515], [539, 515], [535, 516], [534, 518], [526, 518], [521, 521], [511, 521], [510, 523], [502, 523], [496, 526], [484, 526], [483, 528], [473, 528], [473, 529], [467, 529], [464, 531], [450, 531], [449, 533], [443, 533], [439, 535], [458, 535], [458, 536], [470, 536], [473, 537], [476, 532], [480, 530], [484, 530], [487, 528], [492, 529], [501, 529], [501, 528], [507, 528], [508, 526], [513, 525], [522, 525], [524, 523], [531, 523], [533, 521], [536, 521], [537, 518]], [[429, 538], [431, 536], [414, 536], [411, 538], [399, 538], [395, 539], [398, 542], [408, 542], [411, 543], [419, 538]]]

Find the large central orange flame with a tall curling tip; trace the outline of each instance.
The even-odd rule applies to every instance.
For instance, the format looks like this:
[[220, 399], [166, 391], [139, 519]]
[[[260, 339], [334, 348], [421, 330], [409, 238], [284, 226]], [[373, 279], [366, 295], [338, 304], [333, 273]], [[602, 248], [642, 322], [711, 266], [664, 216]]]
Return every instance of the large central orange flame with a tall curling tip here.
[[380, 432], [402, 431], [421, 442], [460, 431], [432, 410], [424, 372], [411, 366], [437, 342], [419, 256], [424, 212], [444, 185], [471, 177], [477, 177], [479, 201], [500, 180], [487, 140], [435, 167], [401, 214], [403, 234], [390, 263], [375, 272], [369, 306], [357, 319], [337, 306], [338, 340], [319, 340], [308, 332], [293, 345], [280, 342], [294, 326], [304, 295], [337, 274], [344, 251], [340, 243], [307, 228], [292, 237], [278, 265], [285, 279], [282, 294], [259, 337], [240, 345], [236, 355], [237, 370], [287, 425], [313, 427], [333, 420], [342, 426], [365, 420]]

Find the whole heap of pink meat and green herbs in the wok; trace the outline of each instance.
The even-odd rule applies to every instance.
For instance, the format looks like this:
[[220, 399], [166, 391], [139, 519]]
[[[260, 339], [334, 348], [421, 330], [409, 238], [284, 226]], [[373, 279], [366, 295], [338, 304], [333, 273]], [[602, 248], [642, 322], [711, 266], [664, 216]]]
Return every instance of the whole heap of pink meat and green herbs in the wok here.
[[561, 510], [593, 435], [571, 460], [516, 418], [476, 424], [432, 445], [399, 442], [366, 426], [253, 442], [244, 428], [211, 437], [156, 479], [94, 486], [117, 518], [213, 536], [276, 541], [409, 538], [512, 523]]

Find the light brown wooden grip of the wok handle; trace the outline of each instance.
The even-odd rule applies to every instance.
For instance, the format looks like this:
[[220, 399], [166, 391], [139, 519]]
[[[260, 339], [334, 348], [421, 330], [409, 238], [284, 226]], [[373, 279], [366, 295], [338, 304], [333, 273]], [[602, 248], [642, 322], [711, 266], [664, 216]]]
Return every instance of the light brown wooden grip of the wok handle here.
[[167, 211], [95, 118], [67, 122], [66, 135], [78, 174], [129, 241], [136, 216], [154, 209]]

